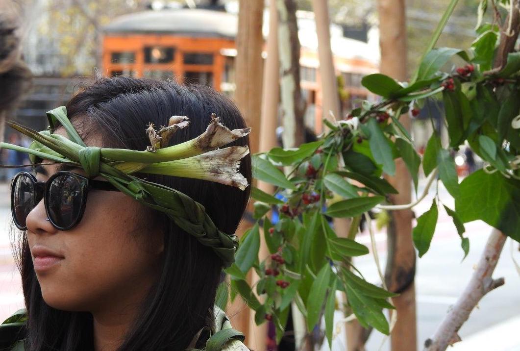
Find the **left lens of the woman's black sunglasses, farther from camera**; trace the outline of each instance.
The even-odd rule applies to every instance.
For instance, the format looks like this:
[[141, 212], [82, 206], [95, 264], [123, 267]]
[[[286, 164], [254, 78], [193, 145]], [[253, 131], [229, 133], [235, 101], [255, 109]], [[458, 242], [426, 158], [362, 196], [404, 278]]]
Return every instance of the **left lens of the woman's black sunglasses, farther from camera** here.
[[19, 174], [12, 184], [11, 197], [12, 218], [18, 228], [24, 228], [27, 215], [36, 206], [33, 180], [25, 174]]

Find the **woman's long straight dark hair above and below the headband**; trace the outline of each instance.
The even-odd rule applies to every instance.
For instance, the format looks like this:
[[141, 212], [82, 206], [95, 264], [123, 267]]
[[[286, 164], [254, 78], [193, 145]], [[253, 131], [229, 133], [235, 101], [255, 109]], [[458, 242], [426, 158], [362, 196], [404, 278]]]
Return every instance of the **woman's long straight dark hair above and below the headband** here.
[[[101, 133], [103, 146], [113, 148], [145, 150], [150, 145], [145, 133], [148, 122], [167, 125], [172, 115], [188, 116], [190, 125], [178, 131], [170, 145], [203, 133], [213, 112], [230, 129], [246, 127], [239, 110], [225, 95], [211, 88], [180, 86], [171, 81], [98, 77], [72, 97], [66, 107], [73, 123], [80, 119], [86, 122], [82, 123], [82, 138], [88, 133]], [[249, 145], [249, 139], [244, 137], [231, 145]], [[251, 184], [249, 155], [242, 159], [240, 172]], [[210, 181], [159, 175], [147, 175], [147, 179], [184, 192], [203, 204], [217, 228], [228, 234], [236, 231], [250, 196], [250, 187], [242, 191]], [[180, 350], [188, 347], [202, 327], [211, 327], [222, 261], [164, 214], [156, 215], [154, 220], [168, 224], [162, 272], [119, 350]], [[93, 349], [92, 316], [48, 306], [34, 273], [25, 232], [17, 245], [29, 316], [26, 349]]]

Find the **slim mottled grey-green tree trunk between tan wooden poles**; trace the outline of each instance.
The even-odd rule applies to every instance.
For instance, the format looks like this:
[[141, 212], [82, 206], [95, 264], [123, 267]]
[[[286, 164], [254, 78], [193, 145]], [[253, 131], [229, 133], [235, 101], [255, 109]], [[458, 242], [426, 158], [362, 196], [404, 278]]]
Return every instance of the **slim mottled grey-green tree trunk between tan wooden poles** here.
[[300, 88], [300, 41], [294, 0], [278, 0], [278, 50], [281, 70], [283, 146], [303, 144], [305, 101]]

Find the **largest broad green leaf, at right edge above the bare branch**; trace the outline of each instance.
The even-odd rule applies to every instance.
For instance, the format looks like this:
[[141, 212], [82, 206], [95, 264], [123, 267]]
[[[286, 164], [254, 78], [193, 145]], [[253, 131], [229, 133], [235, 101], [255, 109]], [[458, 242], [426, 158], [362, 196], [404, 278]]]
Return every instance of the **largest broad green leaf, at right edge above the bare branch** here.
[[455, 209], [463, 223], [481, 219], [520, 242], [520, 181], [479, 170], [460, 184]]

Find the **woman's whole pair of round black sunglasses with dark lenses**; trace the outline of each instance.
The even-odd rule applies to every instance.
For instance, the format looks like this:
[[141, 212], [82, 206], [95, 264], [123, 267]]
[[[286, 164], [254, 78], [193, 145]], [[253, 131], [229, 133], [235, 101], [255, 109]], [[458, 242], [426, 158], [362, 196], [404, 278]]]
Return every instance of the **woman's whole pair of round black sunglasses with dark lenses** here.
[[27, 230], [27, 216], [44, 200], [50, 223], [68, 230], [80, 223], [89, 189], [119, 191], [108, 181], [88, 179], [82, 175], [60, 171], [47, 181], [38, 181], [28, 172], [20, 172], [11, 180], [11, 213], [18, 229]]

